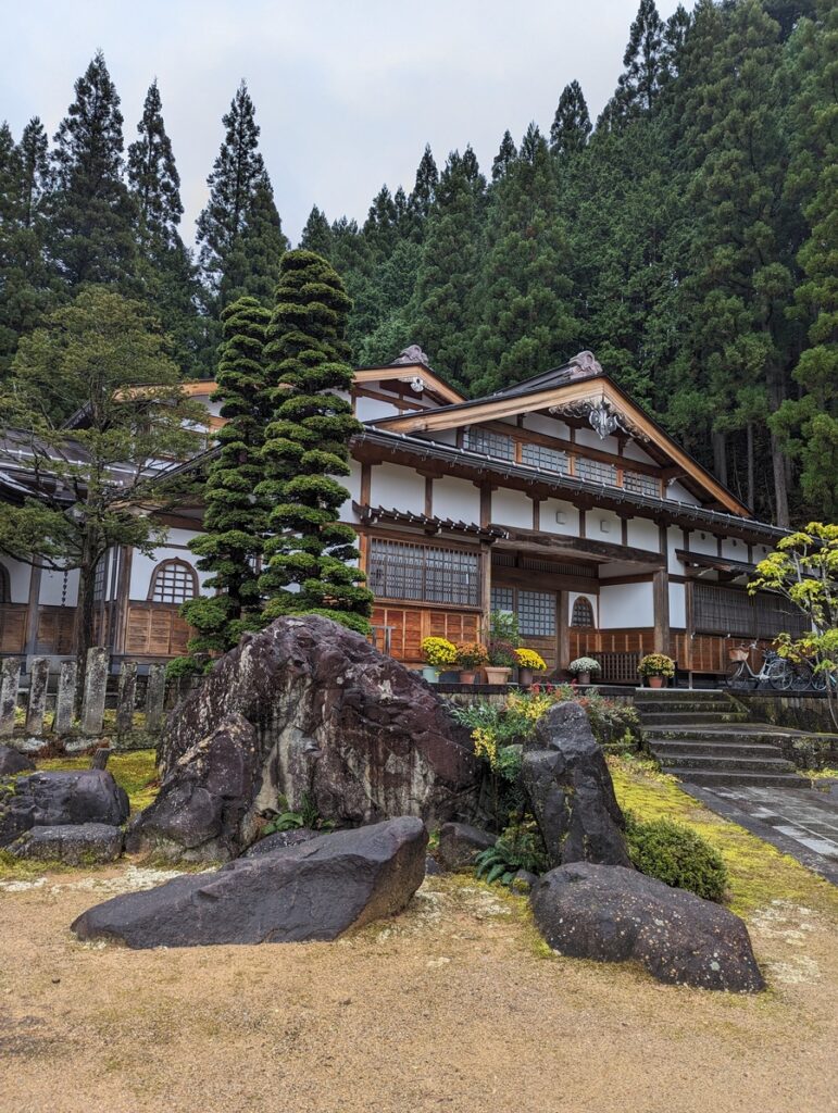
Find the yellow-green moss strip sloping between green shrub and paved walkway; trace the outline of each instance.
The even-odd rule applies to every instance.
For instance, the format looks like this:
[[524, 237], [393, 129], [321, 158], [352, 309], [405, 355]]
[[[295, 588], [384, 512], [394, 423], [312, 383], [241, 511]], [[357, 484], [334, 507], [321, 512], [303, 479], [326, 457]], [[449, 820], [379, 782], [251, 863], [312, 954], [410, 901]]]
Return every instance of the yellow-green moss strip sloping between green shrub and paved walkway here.
[[688, 824], [717, 848], [730, 874], [730, 908], [746, 919], [772, 900], [818, 907], [838, 916], [838, 890], [789, 855], [717, 816], [688, 796], [673, 777], [654, 775], [640, 762], [609, 757], [620, 807], [642, 820], [676, 819]]

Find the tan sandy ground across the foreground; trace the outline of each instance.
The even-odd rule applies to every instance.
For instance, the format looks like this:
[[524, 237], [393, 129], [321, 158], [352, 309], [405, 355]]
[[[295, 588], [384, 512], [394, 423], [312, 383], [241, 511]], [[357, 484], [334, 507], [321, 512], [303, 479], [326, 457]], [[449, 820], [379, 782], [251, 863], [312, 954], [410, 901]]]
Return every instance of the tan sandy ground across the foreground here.
[[[134, 867], [0, 886], [2, 1113], [825, 1113], [838, 947], [822, 908], [751, 923], [770, 992], [544, 954], [523, 902], [431, 878], [336, 944], [127, 951], [71, 919]], [[110, 892], [109, 892], [110, 888]]]

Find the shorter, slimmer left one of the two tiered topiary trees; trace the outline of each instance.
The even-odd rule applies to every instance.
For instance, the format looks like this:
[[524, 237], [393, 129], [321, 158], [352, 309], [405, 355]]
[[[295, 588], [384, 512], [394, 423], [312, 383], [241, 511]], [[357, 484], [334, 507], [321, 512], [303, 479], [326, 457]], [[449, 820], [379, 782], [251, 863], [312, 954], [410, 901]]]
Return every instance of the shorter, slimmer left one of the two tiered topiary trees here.
[[270, 311], [255, 297], [240, 297], [221, 313], [217, 390], [221, 417], [220, 453], [209, 466], [205, 532], [190, 549], [198, 568], [211, 572], [213, 597], [184, 603], [184, 618], [198, 633], [189, 642], [197, 652], [227, 652], [245, 630], [258, 629], [260, 599], [257, 561], [267, 528], [267, 508], [254, 498], [263, 479], [260, 456], [269, 406], [265, 383], [265, 332]]

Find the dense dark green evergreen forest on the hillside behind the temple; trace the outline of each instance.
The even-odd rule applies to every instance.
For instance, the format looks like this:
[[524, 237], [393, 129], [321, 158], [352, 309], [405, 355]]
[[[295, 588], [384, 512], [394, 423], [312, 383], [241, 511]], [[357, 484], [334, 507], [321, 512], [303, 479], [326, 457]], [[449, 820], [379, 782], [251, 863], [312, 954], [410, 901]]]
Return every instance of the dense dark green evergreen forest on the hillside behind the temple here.
[[[481, 396], [590, 348], [758, 516], [835, 518], [838, 8], [699, 0], [662, 20], [641, 0], [614, 77], [595, 120], [573, 75], [552, 119], [497, 120], [491, 165], [467, 136], [417, 151], [363, 223], [313, 205], [297, 246], [343, 279], [351, 358], [420, 344]], [[96, 286], [144, 304], [183, 378], [216, 376], [219, 351], [235, 371], [230, 322], [269, 334], [292, 245], [247, 85], [194, 243], [164, 95], [152, 82], [129, 134], [99, 52], [53, 136], [0, 124], [0, 380]]]

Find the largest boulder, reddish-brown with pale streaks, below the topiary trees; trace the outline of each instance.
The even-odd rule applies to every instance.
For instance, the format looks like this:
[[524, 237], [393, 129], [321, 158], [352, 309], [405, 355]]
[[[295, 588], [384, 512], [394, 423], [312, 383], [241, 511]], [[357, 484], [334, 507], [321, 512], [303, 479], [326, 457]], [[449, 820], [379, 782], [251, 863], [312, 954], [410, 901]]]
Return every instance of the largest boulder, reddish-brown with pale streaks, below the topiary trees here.
[[[230, 716], [239, 717], [235, 729]], [[234, 765], [239, 751], [240, 795], [226, 798], [219, 835], [216, 805], [197, 788], [206, 788], [209, 768]], [[338, 826], [401, 815], [428, 823], [467, 818], [481, 776], [469, 731], [430, 684], [359, 634], [317, 615], [277, 619], [246, 634], [171, 712], [158, 758], [161, 800], [140, 817], [132, 845], [165, 836], [179, 839], [191, 857], [240, 853], [256, 836], [259, 814], [275, 809], [279, 795], [293, 810], [307, 795]], [[201, 816], [183, 818], [181, 837], [175, 812], [194, 808]]]

